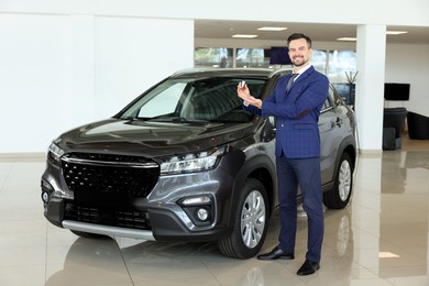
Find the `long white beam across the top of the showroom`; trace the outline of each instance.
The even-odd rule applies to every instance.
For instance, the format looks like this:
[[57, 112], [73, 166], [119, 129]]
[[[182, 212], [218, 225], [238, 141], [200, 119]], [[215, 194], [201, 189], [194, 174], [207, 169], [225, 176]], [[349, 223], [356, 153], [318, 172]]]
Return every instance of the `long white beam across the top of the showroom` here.
[[429, 26], [427, 0], [1, 0], [0, 12]]

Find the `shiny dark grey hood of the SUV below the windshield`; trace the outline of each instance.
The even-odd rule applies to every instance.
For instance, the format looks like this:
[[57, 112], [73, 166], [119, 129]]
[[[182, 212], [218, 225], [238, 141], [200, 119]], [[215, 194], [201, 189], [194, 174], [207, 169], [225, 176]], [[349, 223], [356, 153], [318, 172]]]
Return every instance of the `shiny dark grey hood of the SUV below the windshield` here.
[[156, 157], [207, 150], [251, 135], [252, 123], [175, 123], [108, 119], [64, 133], [66, 152]]

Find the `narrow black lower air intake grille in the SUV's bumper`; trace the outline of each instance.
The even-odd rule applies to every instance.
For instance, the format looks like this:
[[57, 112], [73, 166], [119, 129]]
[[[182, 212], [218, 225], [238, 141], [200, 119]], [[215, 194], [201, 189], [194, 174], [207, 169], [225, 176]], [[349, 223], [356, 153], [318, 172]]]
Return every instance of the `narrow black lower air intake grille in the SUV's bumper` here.
[[72, 201], [66, 202], [64, 219], [119, 228], [151, 230], [146, 211], [108, 210], [86, 207]]

